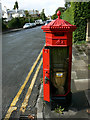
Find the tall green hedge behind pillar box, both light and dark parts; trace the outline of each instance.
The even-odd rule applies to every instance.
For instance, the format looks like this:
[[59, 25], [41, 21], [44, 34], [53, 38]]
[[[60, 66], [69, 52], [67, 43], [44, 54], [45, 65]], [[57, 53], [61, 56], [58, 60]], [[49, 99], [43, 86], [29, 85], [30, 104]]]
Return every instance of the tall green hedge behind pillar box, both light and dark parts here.
[[71, 2], [71, 7], [63, 13], [63, 19], [77, 26], [74, 42], [86, 40], [87, 19], [90, 18], [90, 2]]

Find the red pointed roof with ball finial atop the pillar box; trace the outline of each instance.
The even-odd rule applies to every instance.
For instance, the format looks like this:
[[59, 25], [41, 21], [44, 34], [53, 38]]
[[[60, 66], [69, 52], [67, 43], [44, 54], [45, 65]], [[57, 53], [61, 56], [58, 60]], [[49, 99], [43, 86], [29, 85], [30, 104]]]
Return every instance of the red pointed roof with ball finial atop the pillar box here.
[[61, 12], [57, 12], [58, 18], [51, 21], [49, 24], [42, 26], [43, 30], [65, 30], [65, 31], [74, 31], [76, 29], [76, 25], [72, 25], [69, 22], [60, 18]]

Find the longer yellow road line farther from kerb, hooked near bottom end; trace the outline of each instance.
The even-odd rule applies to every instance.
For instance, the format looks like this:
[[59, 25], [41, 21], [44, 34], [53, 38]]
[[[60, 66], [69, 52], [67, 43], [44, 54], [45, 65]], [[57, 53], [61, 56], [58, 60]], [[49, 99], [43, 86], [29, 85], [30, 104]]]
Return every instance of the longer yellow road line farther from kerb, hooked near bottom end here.
[[42, 50], [41, 50], [40, 54], [38, 55], [36, 61], [34, 62], [34, 64], [33, 64], [32, 68], [31, 68], [31, 70], [29, 71], [29, 73], [28, 73], [28, 75], [27, 75], [27, 77], [26, 77], [26, 79], [25, 79], [23, 85], [21, 86], [21, 88], [20, 88], [20, 90], [18, 91], [17, 95], [16, 95], [15, 98], [13, 99], [13, 101], [12, 101], [12, 103], [11, 103], [11, 105], [10, 105], [8, 111], [7, 111], [7, 114], [6, 114], [5, 118], [6, 118], [6, 117], [7, 117], [7, 118], [10, 118], [11, 113], [13, 112], [13, 111], [12, 111], [12, 108], [13, 108], [13, 109], [15, 108], [15, 110], [16, 110], [16, 107], [14, 107], [14, 106], [16, 105], [16, 103], [17, 103], [17, 101], [18, 101], [18, 99], [19, 99], [19, 96], [21, 95], [21, 93], [22, 93], [22, 91], [23, 91], [23, 89], [24, 89], [26, 83], [28, 82], [28, 80], [29, 80], [29, 78], [30, 78], [30, 76], [31, 76], [31, 74], [32, 74], [32, 72], [33, 72], [33, 70], [34, 70], [36, 64], [38, 63], [38, 61], [39, 61], [41, 55], [42, 55]]

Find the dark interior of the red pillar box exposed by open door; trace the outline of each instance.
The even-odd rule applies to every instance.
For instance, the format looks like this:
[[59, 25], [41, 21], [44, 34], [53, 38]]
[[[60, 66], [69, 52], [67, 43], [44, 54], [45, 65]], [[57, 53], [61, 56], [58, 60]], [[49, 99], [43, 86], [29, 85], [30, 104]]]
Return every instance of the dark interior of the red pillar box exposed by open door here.
[[68, 92], [69, 47], [50, 49], [51, 97], [65, 95]]

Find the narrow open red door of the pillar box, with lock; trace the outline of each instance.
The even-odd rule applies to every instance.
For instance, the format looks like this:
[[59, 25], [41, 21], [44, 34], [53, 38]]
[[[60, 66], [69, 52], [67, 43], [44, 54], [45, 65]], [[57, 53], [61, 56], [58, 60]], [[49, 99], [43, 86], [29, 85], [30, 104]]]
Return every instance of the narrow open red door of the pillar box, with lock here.
[[50, 50], [43, 49], [43, 94], [44, 100], [50, 102]]

